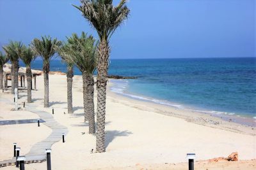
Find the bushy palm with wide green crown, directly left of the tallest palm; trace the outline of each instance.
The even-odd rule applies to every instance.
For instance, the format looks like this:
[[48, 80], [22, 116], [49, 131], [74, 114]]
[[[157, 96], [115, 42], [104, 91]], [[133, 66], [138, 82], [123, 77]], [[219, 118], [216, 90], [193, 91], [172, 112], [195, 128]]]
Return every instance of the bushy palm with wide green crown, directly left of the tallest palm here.
[[72, 34], [67, 38], [67, 44], [61, 48], [65, 60], [74, 63], [83, 75], [84, 122], [89, 120], [90, 134], [95, 133], [93, 73], [97, 64], [96, 46], [93, 36], [82, 32], [80, 38], [77, 34]]

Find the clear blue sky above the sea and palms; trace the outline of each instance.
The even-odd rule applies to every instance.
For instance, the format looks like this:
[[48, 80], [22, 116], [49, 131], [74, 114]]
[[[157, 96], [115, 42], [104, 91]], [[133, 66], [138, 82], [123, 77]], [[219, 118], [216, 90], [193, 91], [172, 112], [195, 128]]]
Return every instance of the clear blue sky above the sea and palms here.
[[[115, 4], [117, 1], [114, 1]], [[97, 36], [71, 4], [0, 0], [0, 45], [72, 32]], [[256, 57], [255, 0], [130, 0], [131, 15], [111, 39], [112, 59]]]

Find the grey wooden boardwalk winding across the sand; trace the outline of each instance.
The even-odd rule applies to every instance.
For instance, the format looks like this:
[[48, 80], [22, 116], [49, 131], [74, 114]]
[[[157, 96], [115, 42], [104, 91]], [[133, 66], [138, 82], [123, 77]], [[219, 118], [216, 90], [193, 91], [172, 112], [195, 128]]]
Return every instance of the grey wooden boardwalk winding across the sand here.
[[[1, 101], [3, 101], [3, 99]], [[10, 103], [10, 101], [7, 101], [7, 103]], [[44, 125], [52, 129], [52, 133], [46, 139], [33, 145], [30, 151], [25, 155], [26, 163], [44, 162], [46, 160], [45, 149], [50, 149], [54, 143], [62, 140], [62, 134], [67, 134], [68, 129], [67, 127], [59, 124], [56, 120], [54, 120], [54, 117], [52, 117], [51, 113], [37, 110], [36, 106], [33, 106], [33, 104], [29, 104], [26, 110], [31, 111], [32, 113], [36, 113], [36, 115], [45, 121]], [[0, 161], [0, 167], [11, 166], [14, 164], [15, 158]]]

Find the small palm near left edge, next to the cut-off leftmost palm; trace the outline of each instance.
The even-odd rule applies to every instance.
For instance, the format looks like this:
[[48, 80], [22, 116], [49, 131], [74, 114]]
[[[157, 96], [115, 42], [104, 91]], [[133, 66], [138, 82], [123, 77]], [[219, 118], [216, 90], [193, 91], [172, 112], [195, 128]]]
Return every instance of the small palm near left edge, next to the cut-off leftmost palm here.
[[3, 46], [7, 57], [12, 62], [12, 94], [14, 94], [14, 89], [19, 86], [18, 71], [19, 71], [19, 56], [22, 50], [21, 41], [10, 41], [9, 45]]

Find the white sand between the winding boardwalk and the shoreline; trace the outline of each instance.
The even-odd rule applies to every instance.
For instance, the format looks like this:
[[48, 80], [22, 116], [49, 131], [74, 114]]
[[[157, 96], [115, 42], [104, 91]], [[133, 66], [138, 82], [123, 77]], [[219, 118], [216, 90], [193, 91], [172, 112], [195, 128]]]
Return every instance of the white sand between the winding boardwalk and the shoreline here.
[[[238, 152], [239, 159], [256, 158], [256, 136], [251, 127], [223, 122], [209, 115], [134, 101], [109, 90], [106, 106], [106, 153], [90, 153], [92, 149], [95, 150], [95, 136], [88, 134], [88, 124], [83, 122], [81, 76], [74, 76], [73, 105], [76, 111], [73, 115], [63, 114], [64, 111], [67, 113], [66, 76], [50, 75], [51, 108], [43, 108], [43, 76], [38, 76], [37, 88], [38, 90], [33, 91], [32, 98], [36, 99], [38, 109], [51, 113], [51, 108], [54, 107], [54, 118], [68, 127], [69, 131], [66, 143], [60, 141], [52, 146], [52, 169], [124, 169], [129, 166], [137, 169], [136, 164], [187, 162], [186, 153], [190, 152], [196, 153], [197, 160], [227, 157], [232, 152]], [[4, 94], [4, 97], [12, 98], [8, 94]], [[26, 97], [22, 97], [20, 101], [26, 101]], [[170, 112], [174, 113], [173, 116], [162, 114]], [[196, 122], [193, 119], [196, 117], [211, 118], [221, 124]], [[29, 131], [34, 132], [36, 129]], [[81, 132], [86, 134], [82, 135]], [[4, 140], [12, 143], [11, 139]], [[1, 145], [1, 149], [2, 147]], [[45, 167], [45, 162], [26, 165], [26, 169]], [[14, 167], [3, 169], [7, 168]]]

